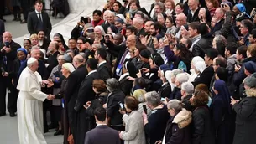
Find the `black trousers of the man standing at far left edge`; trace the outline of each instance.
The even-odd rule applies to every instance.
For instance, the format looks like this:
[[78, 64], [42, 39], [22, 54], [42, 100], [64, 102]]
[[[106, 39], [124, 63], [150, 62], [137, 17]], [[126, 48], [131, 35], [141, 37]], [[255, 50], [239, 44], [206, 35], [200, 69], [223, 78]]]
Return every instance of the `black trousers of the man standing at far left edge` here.
[[11, 78], [2, 77], [0, 78], [0, 115], [6, 113], [6, 92], [8, 92], [8, 111], [15, 113], [17, 111], [18, 90], [12, 84]]

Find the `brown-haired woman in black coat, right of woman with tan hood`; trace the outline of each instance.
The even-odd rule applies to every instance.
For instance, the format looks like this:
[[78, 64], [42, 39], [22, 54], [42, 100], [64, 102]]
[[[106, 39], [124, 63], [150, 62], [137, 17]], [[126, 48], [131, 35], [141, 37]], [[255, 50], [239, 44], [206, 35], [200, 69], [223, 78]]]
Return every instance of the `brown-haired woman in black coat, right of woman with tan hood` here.
[[215, 133], [212, 125], [211, 112], [207, 106], [208, 94], [196, 90], [191, 98], [191, 105], [195, 107], [192, 113], [193, 144], [215, 144]]

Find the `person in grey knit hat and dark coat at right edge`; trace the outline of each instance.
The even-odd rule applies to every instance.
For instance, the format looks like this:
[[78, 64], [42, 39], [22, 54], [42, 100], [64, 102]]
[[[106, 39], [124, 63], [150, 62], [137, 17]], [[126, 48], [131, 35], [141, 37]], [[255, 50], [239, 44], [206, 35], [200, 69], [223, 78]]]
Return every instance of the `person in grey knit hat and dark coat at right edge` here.
[[237, 113], [236, 131], [233, 144], [251, 144], [256, 141], [256, 77], [255, 73], [244, 80], [246, 97], [231, 100], [232, 108]]

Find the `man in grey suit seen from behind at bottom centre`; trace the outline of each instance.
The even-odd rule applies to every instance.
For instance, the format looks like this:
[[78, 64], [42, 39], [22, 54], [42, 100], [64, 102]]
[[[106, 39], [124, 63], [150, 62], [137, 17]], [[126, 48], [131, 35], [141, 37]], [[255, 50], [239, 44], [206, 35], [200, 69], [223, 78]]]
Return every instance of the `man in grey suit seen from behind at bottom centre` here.
[[86, 132], [85, 144], [111, 143], [120, 144], [118, 131], [107, 126], [107, 112], [103, 107], [94, 111], [97, 127]]

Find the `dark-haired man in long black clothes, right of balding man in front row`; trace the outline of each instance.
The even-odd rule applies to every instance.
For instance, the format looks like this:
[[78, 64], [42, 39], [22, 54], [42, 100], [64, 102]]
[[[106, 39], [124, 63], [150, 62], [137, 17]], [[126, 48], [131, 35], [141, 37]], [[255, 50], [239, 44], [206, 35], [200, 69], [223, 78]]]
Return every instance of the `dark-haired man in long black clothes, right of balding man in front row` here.
[[83, 105], [86, 102], [95, 100], [95, 93], [92, 90], [92, 82], [97, 79], [97, 59], [88, 59], [86, 62], [88, 75], [82, 81], [78, 91], [76, 105], [74, 107], [76, 115], [76, 130], [73, 132], [75, 144], [84, 144], [86, 132], [95, 127], [95, 120], [86, 113]]

